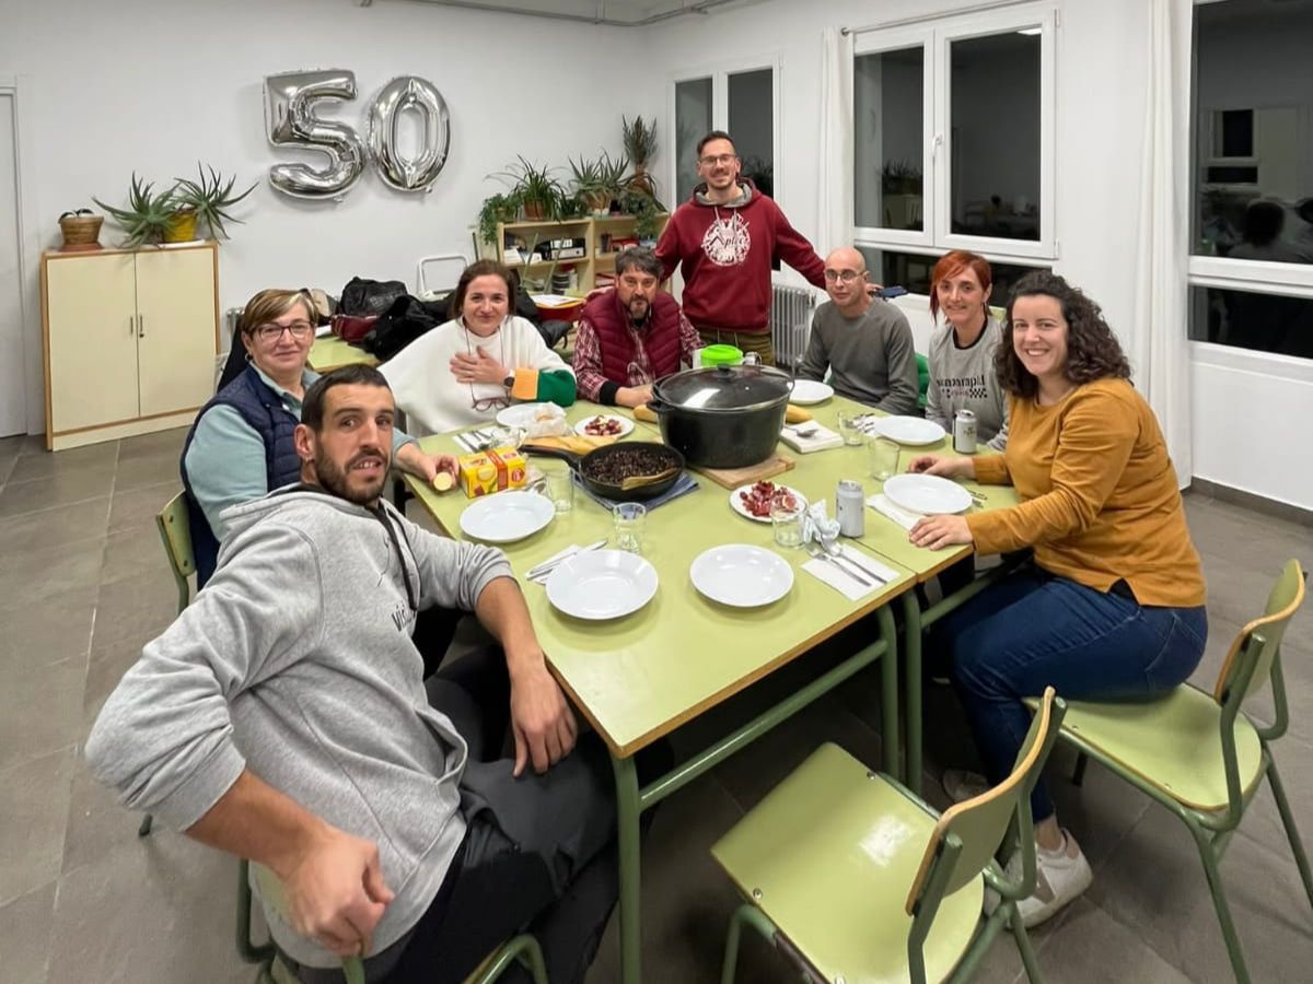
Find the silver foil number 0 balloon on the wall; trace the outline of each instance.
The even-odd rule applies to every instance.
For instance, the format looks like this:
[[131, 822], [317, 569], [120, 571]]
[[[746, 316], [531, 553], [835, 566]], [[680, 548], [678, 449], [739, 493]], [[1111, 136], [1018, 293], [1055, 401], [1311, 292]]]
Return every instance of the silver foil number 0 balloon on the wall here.
[[[406, 160], [397, 148], [397, 126], [402, 114], [415, 110], [424, 118], [424, 138], [415, 160]], [[452, 144], [446, 101], [433, 84], [414, 75], [387, 83], [369, 108], [369, 151], [378, 173], [398, 192], [423, 192], [433, 184]]]

